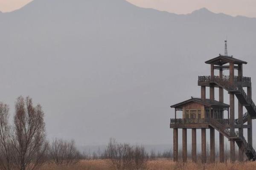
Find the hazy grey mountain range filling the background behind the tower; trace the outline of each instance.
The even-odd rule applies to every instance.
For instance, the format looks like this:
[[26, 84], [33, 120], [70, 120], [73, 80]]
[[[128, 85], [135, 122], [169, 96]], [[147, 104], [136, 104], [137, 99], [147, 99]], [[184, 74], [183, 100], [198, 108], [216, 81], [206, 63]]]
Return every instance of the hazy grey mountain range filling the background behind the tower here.
[[229, 54], [248, 62], [244, 75], [256, 71], [256, 19], [205, 8], [178, 15], [125, 0], [34, 0], [0, 22], [0, 100], [40, 102], [49, 139], [170, 144], [169, 106], [199, 96], [198, 75], [210, 74], [204, 62], [224, 53], [226, 37]]

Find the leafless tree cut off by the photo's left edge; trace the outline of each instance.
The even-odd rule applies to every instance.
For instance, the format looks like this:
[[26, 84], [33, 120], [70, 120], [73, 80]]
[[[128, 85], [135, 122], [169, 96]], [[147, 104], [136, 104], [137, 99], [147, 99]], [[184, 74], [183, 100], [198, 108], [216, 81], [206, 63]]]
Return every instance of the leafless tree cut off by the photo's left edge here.
[[0, 169], [12, 170], [12, 143], [10, 140], [9, 106], [0, 102]]

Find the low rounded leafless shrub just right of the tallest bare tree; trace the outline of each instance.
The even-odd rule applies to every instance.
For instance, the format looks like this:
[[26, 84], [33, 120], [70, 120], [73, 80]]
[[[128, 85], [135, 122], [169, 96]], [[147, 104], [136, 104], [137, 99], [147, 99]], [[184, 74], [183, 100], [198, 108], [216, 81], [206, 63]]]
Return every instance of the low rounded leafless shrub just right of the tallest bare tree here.
[[81, 154], [76, 149], [75, 141], [70, 142], [55, 139], [49, 149], [50, 158], [55, 164], [75, 164], [81, 159]]

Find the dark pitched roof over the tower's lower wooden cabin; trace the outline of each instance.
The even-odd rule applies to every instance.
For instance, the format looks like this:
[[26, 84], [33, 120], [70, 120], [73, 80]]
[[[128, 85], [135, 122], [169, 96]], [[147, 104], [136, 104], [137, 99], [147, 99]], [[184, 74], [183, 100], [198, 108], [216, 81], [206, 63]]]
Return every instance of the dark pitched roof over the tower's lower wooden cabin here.
[[171, 108], [180, 108], [180, 109], [182, 109], [183, 105], [186, 105], [186, 104], [191, 103], [191, 102], [200, 103], [200, 104], [203, 104], [203, 105], [207, 105], [209, 107], [220, 107], [220, 108], [229, 108], [230, 107], [230, 105], [218, 102], [216, 100], [214, 100], [214, 101], [211, 101], [210, 99], [202, 100], [201, 98], [191, 97], [191, 99], [185, 100], [185, 101], [177, 103], [175, 105], [172, 105]]

